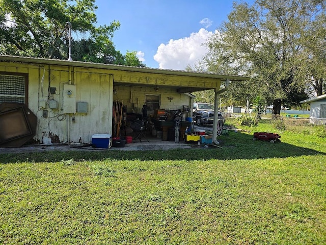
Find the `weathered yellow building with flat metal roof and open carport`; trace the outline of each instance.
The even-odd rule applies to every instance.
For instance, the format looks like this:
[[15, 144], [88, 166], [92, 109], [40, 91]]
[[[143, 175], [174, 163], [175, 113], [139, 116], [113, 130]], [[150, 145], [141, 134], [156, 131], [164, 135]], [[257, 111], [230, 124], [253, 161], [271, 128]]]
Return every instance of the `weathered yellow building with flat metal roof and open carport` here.
[[[0, 56], [0, 104], [20, 103], [37, 116], [34, 141], [90, 143], [93, 134], [113, 134], [114, 104], [151, 117], [180, 110], [191, 117], [191, 92], [220, 90], [221, 81], [242, 76], [131, 67], [55, 59]], [[216, 105], [215, 105], [216, 106]], [[218, 108], [218, 107], [216, 107]], [[0, 142], [1, 144], [1, 142]]]

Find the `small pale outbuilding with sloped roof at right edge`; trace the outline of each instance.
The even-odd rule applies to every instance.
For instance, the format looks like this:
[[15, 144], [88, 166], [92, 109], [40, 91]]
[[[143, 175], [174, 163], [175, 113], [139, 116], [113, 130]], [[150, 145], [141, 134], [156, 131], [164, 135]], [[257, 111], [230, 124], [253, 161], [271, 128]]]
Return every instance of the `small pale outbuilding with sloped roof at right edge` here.
[[300, 102], [310, 104], [310, 121], [313, 124], [326, 123], [326, 94]]

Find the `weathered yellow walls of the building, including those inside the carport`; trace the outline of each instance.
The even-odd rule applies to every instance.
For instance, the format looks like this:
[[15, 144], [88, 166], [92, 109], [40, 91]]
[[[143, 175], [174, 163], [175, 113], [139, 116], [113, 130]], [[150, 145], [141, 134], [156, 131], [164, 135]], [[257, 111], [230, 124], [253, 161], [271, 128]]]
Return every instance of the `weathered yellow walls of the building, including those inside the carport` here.
[[[140, 72], [132, 76], [130, 71], [124, 74], [116, 70], [57, 64], [0, 62], [0, 71], [28, 74], [28, 107], [38, 118], [34, 139], [44, 144], [90, 143], [93, 134], [112, 135], [112, 106], [116, 100], [122, 101], [128, 112], [139, 114], [142, 113], [146, 94], [160, 95], [160, 109], [182, 110], [183, 105], [192, 108], [192, 98], [178, 93], [177, 85], [195, 86], [197, 82], [184, 76], [149, 74], [146, 78]], [[119, 79], [119, 85], [115, 85], [116, 78]], [[216, 79], [201, 83], [214, 82], [216, 86], [220, 83]], [[157, 92], [154, 90], [155, 83], [160, 84]], [[66, 100], [66, 85], [74, 85], [73, 96], [69, 100]], [[56, 92], [50, 94], [49, 87], [55, 88]], [[117, 94], [113, 94], [113, 88]], [[173, 97], [171, 102], [168, 97]], [[58, 107], [51, 109], [49, 103], [53, 100], [58, 103]], [[78, 102], [87, 102], [87, 113], [66, 112]], [[43, 111], [47, 111], [47, 117], [43, 116]], [[151, 113], [149, 111], [148, 116]], [[191, 115], [184, 115], [187, 116]]]

